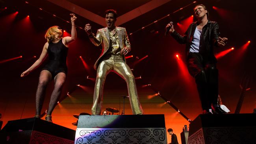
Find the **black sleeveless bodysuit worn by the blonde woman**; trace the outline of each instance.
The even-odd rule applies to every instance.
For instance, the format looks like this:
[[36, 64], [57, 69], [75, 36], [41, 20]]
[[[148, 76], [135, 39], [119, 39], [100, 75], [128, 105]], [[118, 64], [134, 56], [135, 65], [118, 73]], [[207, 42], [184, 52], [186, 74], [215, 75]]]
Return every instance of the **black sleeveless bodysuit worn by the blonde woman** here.
[[47, 49], [49, 59], [42, 70], [48, 70], [52, 74], [52, 79], [59, 73], [64, 72], [67, 75], [67, 48], [62, 39], [57, 43], [49, 42]]

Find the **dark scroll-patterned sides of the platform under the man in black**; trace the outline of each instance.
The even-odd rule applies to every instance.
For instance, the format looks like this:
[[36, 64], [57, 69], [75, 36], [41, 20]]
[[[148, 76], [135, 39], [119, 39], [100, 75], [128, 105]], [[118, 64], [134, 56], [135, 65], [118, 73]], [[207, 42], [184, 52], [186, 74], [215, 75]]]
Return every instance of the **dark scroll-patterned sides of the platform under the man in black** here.
[[256, 127], [207, 127], [188, 138], [188, 144], [256, 144]]

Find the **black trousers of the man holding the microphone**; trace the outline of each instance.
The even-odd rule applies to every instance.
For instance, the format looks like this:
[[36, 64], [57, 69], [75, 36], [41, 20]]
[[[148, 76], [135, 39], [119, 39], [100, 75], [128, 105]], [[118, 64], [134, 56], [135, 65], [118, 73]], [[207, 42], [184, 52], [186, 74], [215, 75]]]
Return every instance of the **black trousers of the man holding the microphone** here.
[[217, 104], [218, 75], [216, 61], [209, 60], [198, 53], [189, 53], [187, 58], [189, 74], [195, 78], [202, 109], [211, 109], [211, 104]]

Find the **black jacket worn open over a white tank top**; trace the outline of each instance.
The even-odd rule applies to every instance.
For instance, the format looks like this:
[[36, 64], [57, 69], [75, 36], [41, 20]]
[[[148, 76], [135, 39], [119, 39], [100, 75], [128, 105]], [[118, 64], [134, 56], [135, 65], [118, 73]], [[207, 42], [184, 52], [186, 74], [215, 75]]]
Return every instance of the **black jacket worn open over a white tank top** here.
[[[186, 60], [189, 55], [189, 49], [196, 27], [197, 22], [190, 24], [187, 31], [184, 33], [184, 36], [181, 36], [176, 31], [171, 33], [171, 36], [180, 44], [186, 44]], [[208, 20], [207, 24], [202, 28], [202, 35], [204, 39], [204, 47], [199, 49], [199, 53], [204, 57], [207, 57], [209, 60], [211, 59], [216, 61], [213, 53], [213, 47], [217, 46], [217, 40], [219, 40], [219, 24]]]

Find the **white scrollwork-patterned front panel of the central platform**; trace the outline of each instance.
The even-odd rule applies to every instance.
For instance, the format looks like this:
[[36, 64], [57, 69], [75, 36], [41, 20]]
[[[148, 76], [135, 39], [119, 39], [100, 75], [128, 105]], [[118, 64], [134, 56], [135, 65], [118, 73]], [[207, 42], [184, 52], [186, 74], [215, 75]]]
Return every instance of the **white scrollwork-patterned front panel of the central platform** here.
[[165, 128], [77, 128], [75, 144], [167, 144]]

